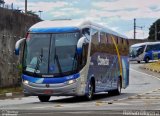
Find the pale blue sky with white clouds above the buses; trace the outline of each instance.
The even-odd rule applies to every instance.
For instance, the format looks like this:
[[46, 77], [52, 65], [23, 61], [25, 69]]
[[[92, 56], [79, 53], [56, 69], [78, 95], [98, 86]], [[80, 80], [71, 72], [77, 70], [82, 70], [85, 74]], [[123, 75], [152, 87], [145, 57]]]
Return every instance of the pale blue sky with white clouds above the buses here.
[[[4, 1], [24, 11], [25, 0]], [[28, 0], [28, 10], [39, 16], [38, 11], [43, 11], [43, 20], [92, 20], [128, 38], [133, 38], [136, 18], [136, 38], [144, 39], [149, 27], [160, 18], [160, 0]]]

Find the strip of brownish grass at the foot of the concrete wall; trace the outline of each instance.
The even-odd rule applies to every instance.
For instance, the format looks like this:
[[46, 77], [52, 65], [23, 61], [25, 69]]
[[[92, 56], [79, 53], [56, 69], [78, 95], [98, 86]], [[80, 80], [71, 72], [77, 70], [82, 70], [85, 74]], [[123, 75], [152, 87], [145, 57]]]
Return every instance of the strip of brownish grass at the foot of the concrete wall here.
[[0, 94], [10, 93], [10, 92], [22, 92], [22, 87], [0, 88]]

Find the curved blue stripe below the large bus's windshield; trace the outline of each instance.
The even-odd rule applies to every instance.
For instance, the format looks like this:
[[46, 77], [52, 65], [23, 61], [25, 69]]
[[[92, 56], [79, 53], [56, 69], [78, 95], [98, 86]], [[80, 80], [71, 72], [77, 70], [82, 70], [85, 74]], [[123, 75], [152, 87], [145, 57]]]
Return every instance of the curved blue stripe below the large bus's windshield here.
[[32, 83], [39, 83], [39, 84], [57, 84], [57, 83], [64, 83], [66, 81], [72, 80], [72, 79], [77, 79], [80, 77], [80, 74], [74, 74], [74, 75], [69, 75], [69, 76], [64, 76], [64, 77], [58, 77], [58, 78], [40, 78], [40, 77], [32, 77], [32, 76], [27, 76], [27, 75], [22, 75], [23, 80], [27, 80]]

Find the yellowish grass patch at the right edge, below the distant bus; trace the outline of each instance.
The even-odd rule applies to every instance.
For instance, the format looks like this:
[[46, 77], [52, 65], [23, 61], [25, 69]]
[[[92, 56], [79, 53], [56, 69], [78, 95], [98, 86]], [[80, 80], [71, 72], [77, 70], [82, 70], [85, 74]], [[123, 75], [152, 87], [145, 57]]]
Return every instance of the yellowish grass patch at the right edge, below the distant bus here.
[[144, 65], [144, 68], [152, 71], [160, 72], [160, 60], [153, 63], [147, 63]]

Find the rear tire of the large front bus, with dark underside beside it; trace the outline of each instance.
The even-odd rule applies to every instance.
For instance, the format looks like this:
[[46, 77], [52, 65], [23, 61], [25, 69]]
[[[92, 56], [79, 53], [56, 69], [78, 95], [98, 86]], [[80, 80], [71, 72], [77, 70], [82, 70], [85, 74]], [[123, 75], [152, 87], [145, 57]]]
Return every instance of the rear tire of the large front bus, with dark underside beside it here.
[[108, 94], [110, 94], [110, 95], [120, 95], [121, 94], [121, 89], [122, 89], [122, 81], [121, 81], [121, 78], [119, 78], [118, 82], [117, 82], [117, 89], [112, 90], [112, 91], [108, 91]]

